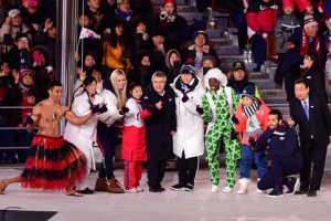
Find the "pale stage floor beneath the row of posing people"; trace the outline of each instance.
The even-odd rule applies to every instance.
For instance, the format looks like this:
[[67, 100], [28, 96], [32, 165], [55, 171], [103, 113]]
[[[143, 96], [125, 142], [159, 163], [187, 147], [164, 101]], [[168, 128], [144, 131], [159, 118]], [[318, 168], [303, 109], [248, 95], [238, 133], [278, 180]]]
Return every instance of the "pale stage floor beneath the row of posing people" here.
[[[0, 167], [0, 179], [18, 175], [13, 168]], [[115, 175], [122, 183], [122, 169]], [[318, 197], [285, 196], [267, 198], [256, 193], [256, 171], [248, 194], [237, 194], [238, 185], [232, 193], [223, 193], [225, 169], [221, 168], [220, 192], [211, 192], [207, 168], [199, 171], [195, 190], [192, 192], [172, 191], [177, 171], [167, 171], [163, 179], [166, 191], [148, 191], [147, 173], [143, 171], [139, 193], [114, 194], [96, 192], [82, 198], [66, 197], [65, 192], [22, 189], [14, 183], [0, 194], [0, 209], [20, 207], [21, 210], [57, 211], [51, 221], [94, 221], [94, 220], [137, 220], [137, 221], [257, 221], [257, 220], [331, 220], [331, 173], [324, 172], [323, 183]], [[94, 188], [97, 172], [88, 176], [88, 185]], [[38, 221], [38, 220], [36, 220]]]

